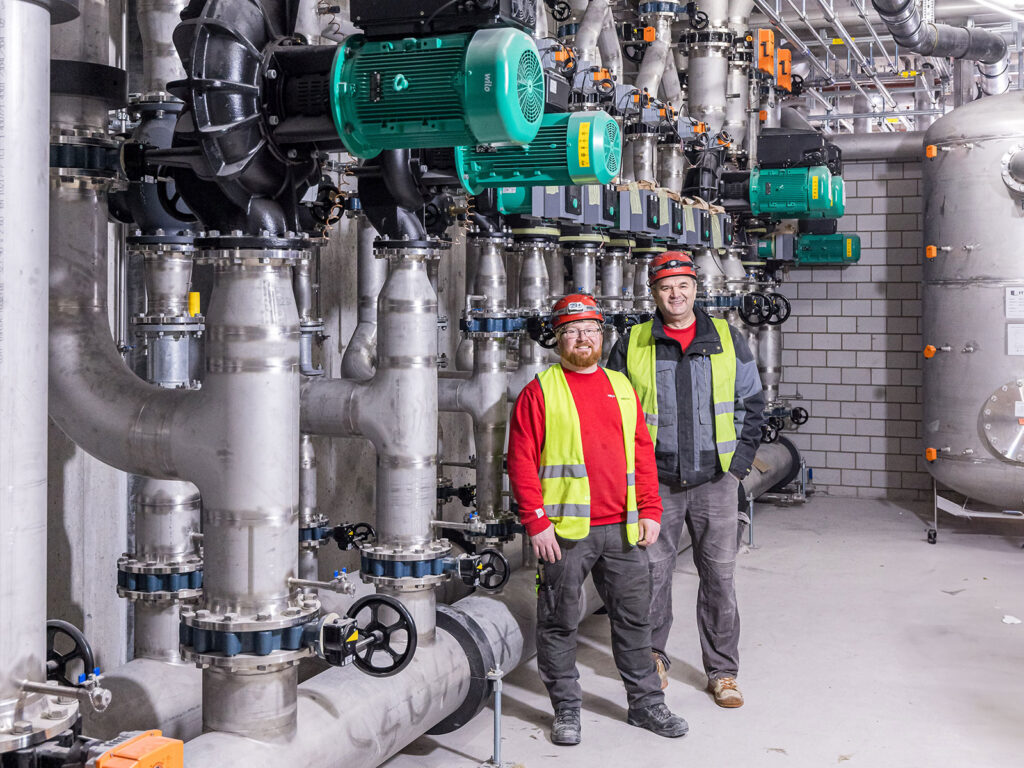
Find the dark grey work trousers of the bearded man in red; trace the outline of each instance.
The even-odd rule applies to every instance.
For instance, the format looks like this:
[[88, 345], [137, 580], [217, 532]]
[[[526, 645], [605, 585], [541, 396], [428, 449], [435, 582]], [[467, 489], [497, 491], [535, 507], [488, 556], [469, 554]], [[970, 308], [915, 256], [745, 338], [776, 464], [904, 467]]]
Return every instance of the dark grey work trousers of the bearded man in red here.
[[665, 701], [650, 652], [650, 573], [647, 553], [631, 547], [625, 525], [596, 525], [586, 539], [558, 538], [562, 559], [544, 564], [538, 590], [537, 668], [555, 712], [580, 709], [575, 665], [581, 595], [587, 574], [608, 609], [611, 654], [631, 709]]

